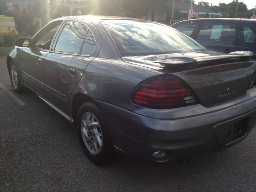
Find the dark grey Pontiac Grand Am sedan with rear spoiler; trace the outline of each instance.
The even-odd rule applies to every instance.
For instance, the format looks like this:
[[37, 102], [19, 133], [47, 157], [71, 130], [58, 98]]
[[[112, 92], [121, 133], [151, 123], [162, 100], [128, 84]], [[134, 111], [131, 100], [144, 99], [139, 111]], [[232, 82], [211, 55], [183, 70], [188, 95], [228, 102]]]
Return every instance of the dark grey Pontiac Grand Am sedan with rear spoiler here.
[[166, 162], [242, 141], [256, 122], [252, 52], [209, 51], [157, 22], [71, 16], [20, 38], [12, 87], [33, 90], [78, 128], [90, 160], [114, 151]]

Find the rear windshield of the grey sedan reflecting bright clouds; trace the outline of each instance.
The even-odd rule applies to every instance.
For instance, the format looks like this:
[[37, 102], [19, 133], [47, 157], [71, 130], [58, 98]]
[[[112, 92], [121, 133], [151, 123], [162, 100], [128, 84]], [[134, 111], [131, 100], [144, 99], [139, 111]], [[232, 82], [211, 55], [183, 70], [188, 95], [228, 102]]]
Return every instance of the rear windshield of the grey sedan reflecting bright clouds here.
[[206, 50], [169, 26], [139, 20], [101, 20], [122, 56], [170, 54]]

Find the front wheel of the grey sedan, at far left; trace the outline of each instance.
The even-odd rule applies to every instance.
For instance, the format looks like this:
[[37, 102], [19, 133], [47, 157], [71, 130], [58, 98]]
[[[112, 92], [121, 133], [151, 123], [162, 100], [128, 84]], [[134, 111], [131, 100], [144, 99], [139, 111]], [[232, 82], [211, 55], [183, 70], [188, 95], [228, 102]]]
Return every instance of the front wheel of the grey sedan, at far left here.
[[12, 82], [12, 88], [16, 93], [22, 93], [23, 89], [20, 84], [20, 78], [18, 74], [18, 70], [14, 64], [14, 62], [11, 61], [10, 63], [10, 78]]

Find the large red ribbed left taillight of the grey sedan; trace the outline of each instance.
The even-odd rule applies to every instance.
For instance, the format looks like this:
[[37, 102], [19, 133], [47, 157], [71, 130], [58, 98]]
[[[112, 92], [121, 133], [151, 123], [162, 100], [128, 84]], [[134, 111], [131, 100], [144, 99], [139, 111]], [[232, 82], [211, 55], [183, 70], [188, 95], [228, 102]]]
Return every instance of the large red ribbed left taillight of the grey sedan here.
[[196, 96], [182, 80], [169, 75], [140, 84], [132, 101], [147, 108], [178, 108], [198, 103]]

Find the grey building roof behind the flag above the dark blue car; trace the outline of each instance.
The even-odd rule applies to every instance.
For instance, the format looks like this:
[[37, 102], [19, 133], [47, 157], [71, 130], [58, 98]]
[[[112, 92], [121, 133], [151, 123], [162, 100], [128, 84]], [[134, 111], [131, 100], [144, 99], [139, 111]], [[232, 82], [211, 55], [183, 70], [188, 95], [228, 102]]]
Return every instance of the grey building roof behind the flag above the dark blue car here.
[[[172, 2], [169, 2], [168, 6], [172, 6]], [[175, 8], [180, 10], [181, 12], [188, 12], [189, 11], [189, 6], [190, 6], [189, 3], [175, 3]], [[216, 12], [214, 12], [210, 9], [207, 9], [205, 7], [202, 7], [202, 6], [199, 6], [199, 5], [196, 5], [196, 4], [193, 4], [192, 6], [193, 6], [193, 9], [194, 9], [195, 13], [200, 12], [200, 13], [217, 14]]]

